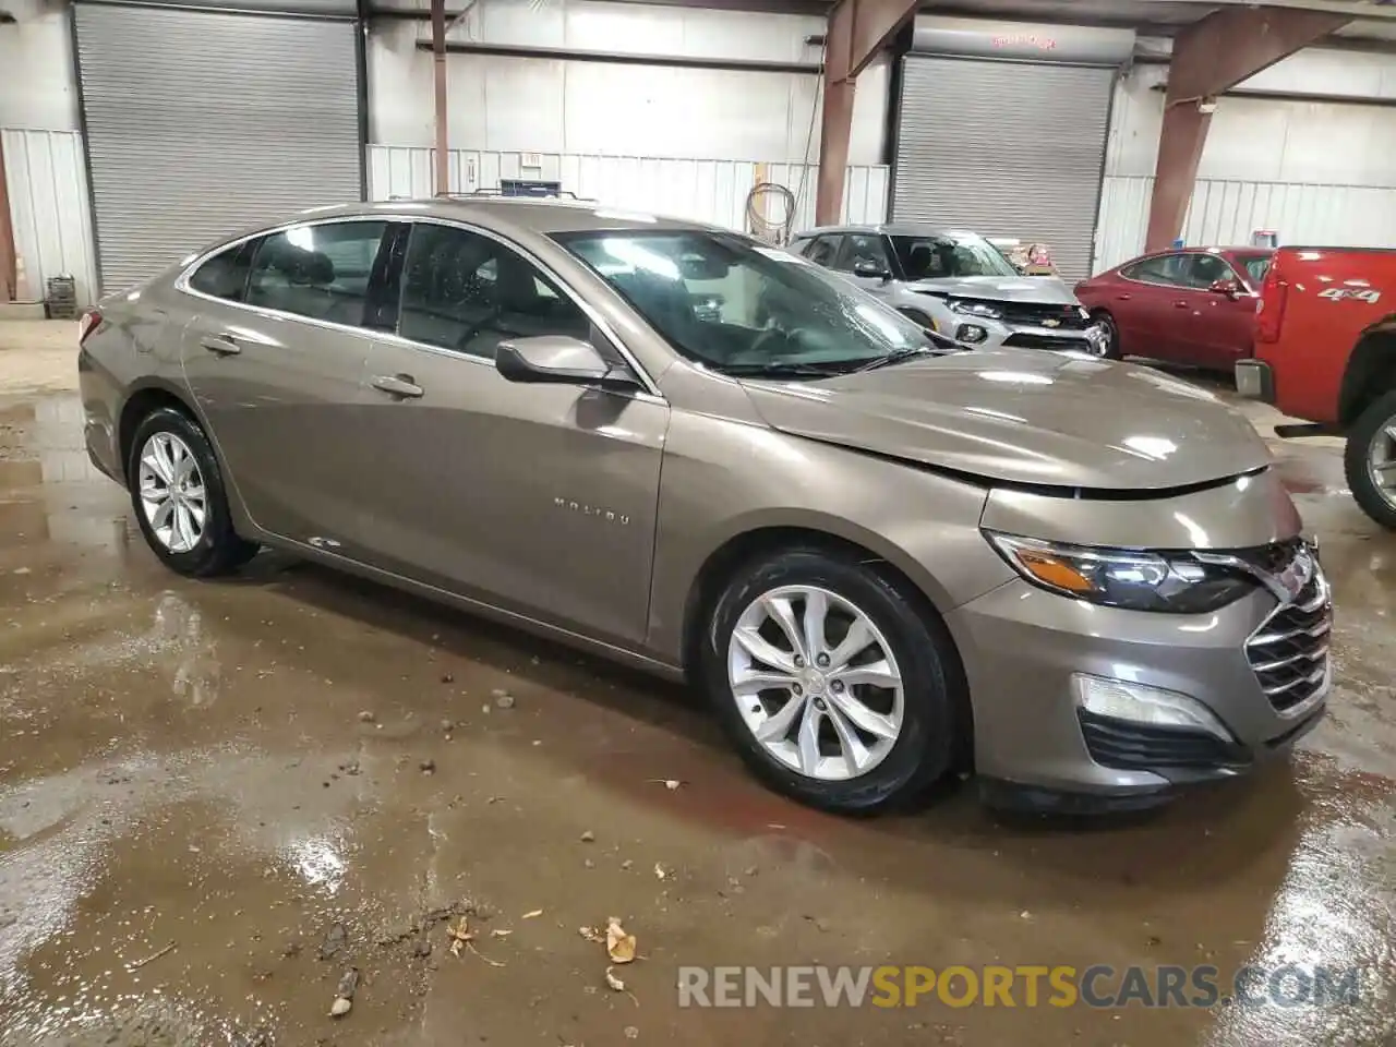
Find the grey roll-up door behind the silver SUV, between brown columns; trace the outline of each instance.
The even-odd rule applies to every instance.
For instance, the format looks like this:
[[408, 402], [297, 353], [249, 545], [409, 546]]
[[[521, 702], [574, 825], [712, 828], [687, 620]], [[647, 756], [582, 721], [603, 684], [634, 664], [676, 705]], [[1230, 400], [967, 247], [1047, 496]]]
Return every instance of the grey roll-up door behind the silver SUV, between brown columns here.
[[1114, 70], [907, 54], [892, 216], [1051, 247], [1090, 275]]

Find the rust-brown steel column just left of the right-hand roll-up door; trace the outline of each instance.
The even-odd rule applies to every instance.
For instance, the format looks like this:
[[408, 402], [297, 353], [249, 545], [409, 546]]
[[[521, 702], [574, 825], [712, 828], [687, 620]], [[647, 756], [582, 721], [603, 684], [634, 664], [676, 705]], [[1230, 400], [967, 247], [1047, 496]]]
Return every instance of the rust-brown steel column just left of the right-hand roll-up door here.
[[839, 0], [824, 43], [824, 112], [819, 117], [819, 177], [814, 200], [818, 225], [843, 211], [843, 179], [853, 134], [853, 91], [861, 73], [916, 11], [917, 0]]

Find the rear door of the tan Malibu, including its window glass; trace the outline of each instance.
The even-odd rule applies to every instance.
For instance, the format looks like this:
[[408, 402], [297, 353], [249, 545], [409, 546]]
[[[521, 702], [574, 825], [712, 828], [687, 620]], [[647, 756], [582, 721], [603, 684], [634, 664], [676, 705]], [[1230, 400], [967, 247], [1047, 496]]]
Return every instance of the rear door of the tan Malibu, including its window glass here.
[[184, 329], [184, 377], [248, 515], [275, 535], [350, 540], [373, 341], [363, 324], [388, 228], [295, 226], [190, 278], [198, 313]]

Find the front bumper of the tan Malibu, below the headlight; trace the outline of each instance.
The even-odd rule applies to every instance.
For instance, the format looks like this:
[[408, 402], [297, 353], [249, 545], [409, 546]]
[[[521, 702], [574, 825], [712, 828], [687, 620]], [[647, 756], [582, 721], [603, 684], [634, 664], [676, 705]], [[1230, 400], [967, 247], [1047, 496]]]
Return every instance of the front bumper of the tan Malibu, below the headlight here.
[[[1318, 585], [1322, 624], [1315, 628], [1326, 637], [1332, 610], [1326, 586]], [[1312, 663], [1323, 671], [1302, 701], [1289, 702], [1293, 691], [1266, 695], [1263, 685], [1279, 684], [1272, 673], [1262, 685], [1256, 667], [1277, 659], [1256, 642], [1282, 621], [1277, 606], [1256, 591], [1213, 614], [1150, 614], [1015, 579], [958, 607], [946, 621], [970, 684], [976, 771], [998, 796], [1026, 796], [1037, 808], [1062, 797], [1129, 807], [1286, 755], [1322, 719], [1330, 667], [1323, 639]], [[1187, 695], [1228, 737], [1096, 716], [1078, 706], [1075, 674]]]

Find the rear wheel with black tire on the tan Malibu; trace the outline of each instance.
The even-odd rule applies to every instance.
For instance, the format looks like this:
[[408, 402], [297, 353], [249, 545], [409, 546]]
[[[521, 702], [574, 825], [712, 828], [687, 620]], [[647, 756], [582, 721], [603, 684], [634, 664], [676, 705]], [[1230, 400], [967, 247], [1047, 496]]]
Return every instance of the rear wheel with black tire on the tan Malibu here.
[[[156, 515], [152, 519], [148, 505], [156, 503], [154, 500], [148, 503], [142, 497], [142, 487], [145, 491], [159, 491], [162, 480], [155, 465], [144, 465], [142, 458], [149, 459], [158, 450], [173, 455], [172, 461], [179, 462], [177, 470], [188, 482], [177, 503], [190, 510], [198, 508], [200, 501], [193, 491], [195, 486], [202, 489], [202, 524], [197, 525], [197, 517], [193, 514], [186, 518], [194, 521], [197, 528], [190, 526], [177, 532], [174, 528], [174, 521], [180, 519], [177, 508], [163, 518]], [[186, 461], [191, 462], [191, 469], [186, 466]], [[214, 448], [204, 430], [184, 412], [176, 408], [158, 408], [141, 419], [131, 440], [131, 458], [126, 463], [126, 476], [131, 507], [135, 510], [135, 519], [145, 543], [172, 571], [191, 578], [208, 578], [233, 571], [257, 554], [257, 543], [239, 537], [233, 530], [228, 493]], [[198, 480], [202, 483], [197, 484]], [[169, 486], [163, 484], [163, 489], [168, 490]], [[159, 530], [158, 524], [161, 524]], [[165, 530], [170, 533], [165, 535]]]

